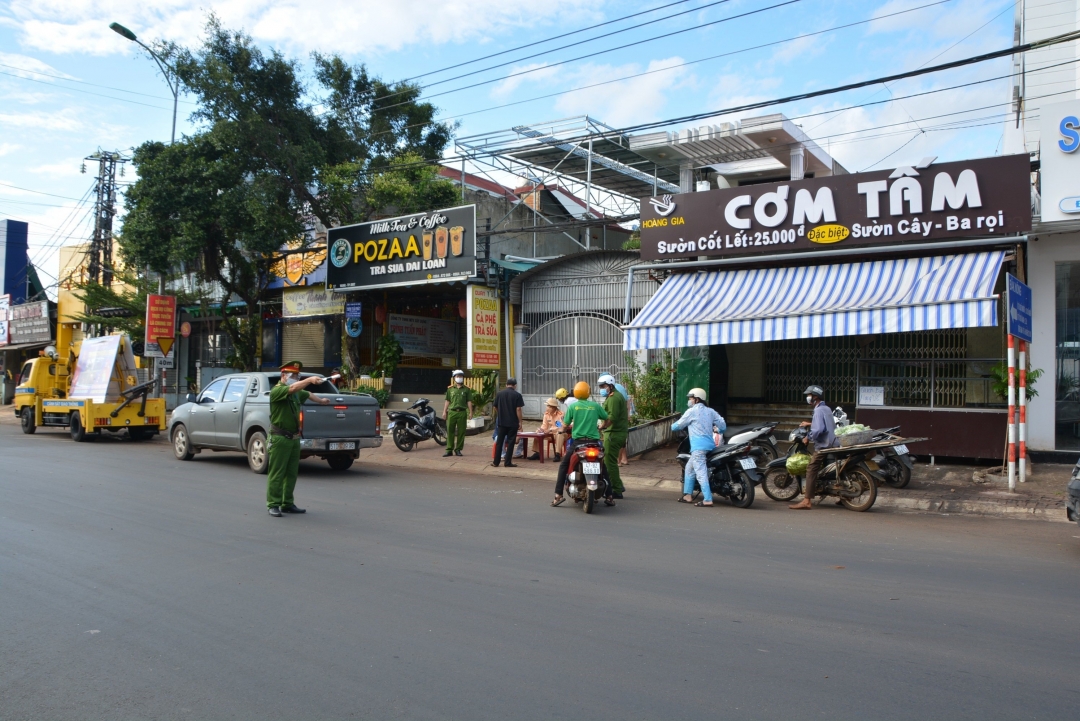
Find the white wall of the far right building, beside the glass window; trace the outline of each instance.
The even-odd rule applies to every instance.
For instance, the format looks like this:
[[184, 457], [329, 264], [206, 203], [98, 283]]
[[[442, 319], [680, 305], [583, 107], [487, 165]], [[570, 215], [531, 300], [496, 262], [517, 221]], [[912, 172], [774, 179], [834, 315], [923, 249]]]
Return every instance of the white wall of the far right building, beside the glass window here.
[[1080, 261], [1080, 233], [1040, 235], [1027, 245], [1027, 284], [1031, 286], [1031, 367], [1043, 376], [1039, 395], [1027, 410], [1027, 446], [1054, 450], [1054, 397], [1056, 329], [1056, 278], [1054, 264]]

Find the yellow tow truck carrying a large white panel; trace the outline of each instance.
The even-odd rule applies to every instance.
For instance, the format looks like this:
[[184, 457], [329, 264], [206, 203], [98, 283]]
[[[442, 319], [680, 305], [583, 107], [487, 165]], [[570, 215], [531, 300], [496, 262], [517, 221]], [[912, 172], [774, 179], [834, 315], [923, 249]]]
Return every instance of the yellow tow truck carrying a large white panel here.
[[149, 397], [157, 380], [138, 383], [127, 336], [73, 341], [79, 324], [58, 323], [56, 345], [27, 360], [15, 387], [23, 433], [65, 427], [83, 441], [126, 428], [132, 440], [165, 430], [164, 398]]

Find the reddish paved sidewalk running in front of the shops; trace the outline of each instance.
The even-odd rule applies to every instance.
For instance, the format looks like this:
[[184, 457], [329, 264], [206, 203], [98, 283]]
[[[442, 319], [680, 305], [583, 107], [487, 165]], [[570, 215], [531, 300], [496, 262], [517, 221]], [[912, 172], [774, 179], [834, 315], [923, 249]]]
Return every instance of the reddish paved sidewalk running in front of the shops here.
[[[491, 436], [468, 436], [462, 455], [443, 458], [445, 449], [434, 441], [423, 441], [404, 453], [393, 439], [384, 437], [382, 447], [361, 451], [360, 463], [409, 468], [417, 473], [453, 471], [501, 478], [518, 478], [530, 482], [549, 484], [554, 494], [558, 465], [515, 459], [515, 468], [491, 465]], [[908, 513], [960, 514], [1024, 518], [1068, 522], [1065, 515], [1065, 494], [1072, 466], [1065, 464], [1038, 464], [1028, 475], [1028, 481], [1017, 485], [1010, 493], [1001, 481], [983, 480], [982, 466], [916, 463], [912, 482], [907, 488], [878, 489], [875, 508], [890, 508]], [[976, 482], [976, 478], [981, 482]], [[662, 448], [631, 459], [623, 466], [622, 479], [627, 491], [661, 490], [677, 494], [683, 488], [683, 473], [675, 460], [674, 448]], [[774, 503], [758, 490], [755, 503]]]

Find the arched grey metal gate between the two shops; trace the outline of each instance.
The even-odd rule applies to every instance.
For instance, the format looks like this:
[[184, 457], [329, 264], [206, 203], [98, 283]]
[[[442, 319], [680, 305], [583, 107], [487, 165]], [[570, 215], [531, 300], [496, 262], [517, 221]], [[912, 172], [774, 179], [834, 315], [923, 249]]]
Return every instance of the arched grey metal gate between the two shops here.
[[602, 373], [626, 371], [622, 328], [607, 318], [568, 315], [549, 321], [522, 345], [522, 393], [551, 395], [578, 381], [595, 389]]

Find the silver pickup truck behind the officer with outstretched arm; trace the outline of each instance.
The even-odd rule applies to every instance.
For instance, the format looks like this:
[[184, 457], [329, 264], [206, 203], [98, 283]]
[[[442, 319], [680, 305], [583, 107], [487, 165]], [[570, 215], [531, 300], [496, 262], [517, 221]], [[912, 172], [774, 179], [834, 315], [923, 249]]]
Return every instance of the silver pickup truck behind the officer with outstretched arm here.
[[[301, 373], [307, 378], [313, 373]], [[173, 453], [190, 461], [201, 450], [241, 451], [255, 473], [266, 473], [270, 433], [270, 389], [279, 373], [232, 373], [214, 379], [199, 395], [173, 411], [168, 437]], [[300, 458], [318, 455], [335, 471], [345, 471], [361, 448], [382, 445], [379, 404], [369, 395], [346, 395], [333, 383], [308, 386], [330, 402], [311, 402], [300, 408]]]

